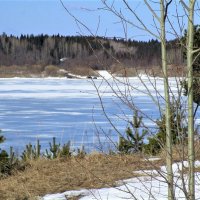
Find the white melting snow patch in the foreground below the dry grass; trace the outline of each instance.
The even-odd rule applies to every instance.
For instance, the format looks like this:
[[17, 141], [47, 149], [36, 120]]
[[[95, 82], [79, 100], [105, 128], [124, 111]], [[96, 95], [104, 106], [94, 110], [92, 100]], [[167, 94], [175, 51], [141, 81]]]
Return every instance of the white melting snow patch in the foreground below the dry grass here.
[[[179, 170], [182, 167], [188, 166], [188, 163], [174, 163], [172, 168], [174, 171], [175, 194], [177, 199], [185, 199], [184, 193], [181, 190], [182, 180]], [[195, 167], [200, 166], [200, 161], [195, 162]], [[123, 199], [159, 199], [167, 200], [167, 184], [163, 177], [159, 176], [156, 170], [137, 171], [144, 176], [120, 181], [122, 185], [113, 188], [102, 188], [92, 190], [67, 191], [60, 194], [46, 195], [42, 200], [66, 200], [67, 197], [82, 196], [80, 200], [123, 200]], [[166, 176], [166, 167], [161, 167], [160, 173]], [[135, 172], [134, 172], [135, 173]], [[154, 175], [154, 176], [150, 176]], [[196, 181], [200, 173], [195, 173]], [[187, 176], [184, 175], [184, 181], [187, 187]], [[199, 185], [196, 182], [196, 186]], [[196, 187], [196, 199], [200, 198], [200, 188]]]

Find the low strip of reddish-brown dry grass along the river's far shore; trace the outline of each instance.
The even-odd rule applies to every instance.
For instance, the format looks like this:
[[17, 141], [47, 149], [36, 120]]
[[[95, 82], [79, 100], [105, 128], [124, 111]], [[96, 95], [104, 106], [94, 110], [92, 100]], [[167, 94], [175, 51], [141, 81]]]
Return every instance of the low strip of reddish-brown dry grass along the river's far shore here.
[[[168, 66], [169, 76], [185, 76], [185, 68], [182, 66]], [[42, 66], [0, 66], [0, 78], [10, 77], [46, 77], [46, 76], [64, 76], [59, 73], [59, 67], [54, 65]], [[98, 74], [87, 65], [74, 65], [67, 68], [67, 71], [81, 76], [98, 76]], [[148, 74], [150, 76], [162, 77], [163, 73], [159, 66], [144, 68], [138, 67], [122, 67], [119, 64], [113, 64], [110, 69], [112, 74], [122, 77], [134, 77], [138, 74]]]

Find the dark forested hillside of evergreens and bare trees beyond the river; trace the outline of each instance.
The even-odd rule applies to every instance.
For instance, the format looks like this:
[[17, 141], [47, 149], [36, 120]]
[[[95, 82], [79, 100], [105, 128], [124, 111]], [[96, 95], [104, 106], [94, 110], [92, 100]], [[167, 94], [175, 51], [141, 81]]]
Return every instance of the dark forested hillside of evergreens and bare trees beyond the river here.
[[[157, 40], [124, 41], [85, 36], [0, 36], [1, 66], [39, 64], [109, 68], [118, 61], [127, 67], [159, 66], [160, 43]], [[181, 65], [182, 62], [180, 47], [175, 41], [169, 42], [168, 63]]]

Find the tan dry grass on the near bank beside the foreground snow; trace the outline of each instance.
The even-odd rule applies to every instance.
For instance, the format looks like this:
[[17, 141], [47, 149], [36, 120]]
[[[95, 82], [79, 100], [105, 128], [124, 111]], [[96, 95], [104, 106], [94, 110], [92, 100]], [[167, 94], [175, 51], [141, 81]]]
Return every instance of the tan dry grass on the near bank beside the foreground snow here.
[[25, 171], [0, 180], [0, 199], [34, 199], [67, 190], [115, 186], [118, 180], [139, 176], [135, 170], [156, 169], [163, 164], [163, 160], [147, 161], [141, 155], [39, 159], [31, 161]]

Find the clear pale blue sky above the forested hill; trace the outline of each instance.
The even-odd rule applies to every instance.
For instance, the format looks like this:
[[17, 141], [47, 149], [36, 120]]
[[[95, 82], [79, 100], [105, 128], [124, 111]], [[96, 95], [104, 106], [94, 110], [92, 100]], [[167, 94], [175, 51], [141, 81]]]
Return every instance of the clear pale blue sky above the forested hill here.
[[[113, 2], [113, 1], [112, 1]], [[121, 0], [114, 1], [118, 12], [137, 25], [137, 20]], [[128, 0], [131, 8], [136, 11], [142, 21], [156, 34], [154, 20], [141, 0]], [[155, 39], [135, 26], [125, 25], [113, 13], [105, 9], [101, 0], [0, 0], [0, 34], [20, 36], [21, 34], [60, 34], [60, 35], [98, 35], [119, 37], [134, 40]], [[108, 1], [111, 5], [111, 1]], [[153, 5], [155, 10], [156, 4]], [[178, 6], [180, 7], [180, 6]], [[175, 11], [175, 7], [170, 8]], [[76, 23], [77, 18], [80, 23]], [[174, 19], [172, 19], [174, 23]], [[174, 23], [176, 24], [176, 23]], [[169, 25], [168, 25], [169, 26]], [[177, 26], [174, 25], [175, 27]], [[87, 28], [86, 28], [87, 27]], [[168, 34], [169, 39], [173, 35]]]

